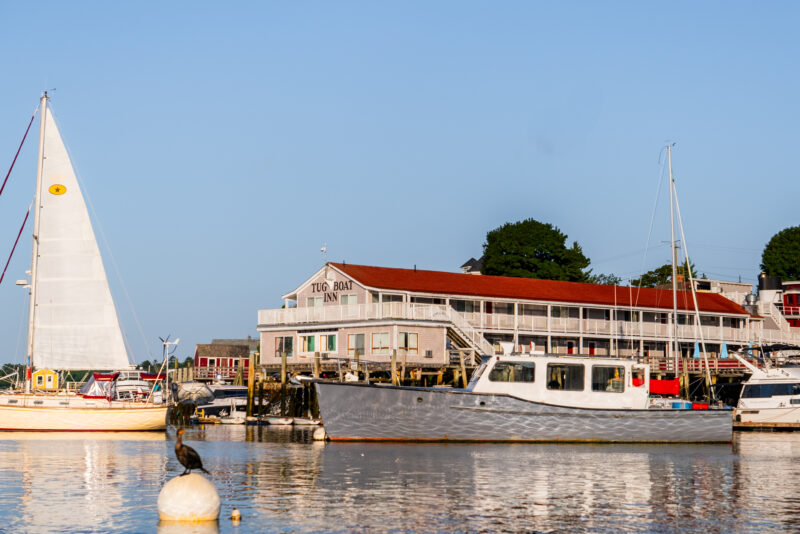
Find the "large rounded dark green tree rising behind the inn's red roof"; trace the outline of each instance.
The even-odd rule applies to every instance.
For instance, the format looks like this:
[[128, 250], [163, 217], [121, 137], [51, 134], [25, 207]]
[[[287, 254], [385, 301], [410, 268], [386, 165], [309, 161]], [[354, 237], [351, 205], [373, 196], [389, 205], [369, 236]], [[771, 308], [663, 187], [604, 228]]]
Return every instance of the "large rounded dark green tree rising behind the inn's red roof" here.
[[481, 273], [521, 278], [586, 282], [589, 259], [552, 224], [534, 219], [506, 223], [486, 234]]

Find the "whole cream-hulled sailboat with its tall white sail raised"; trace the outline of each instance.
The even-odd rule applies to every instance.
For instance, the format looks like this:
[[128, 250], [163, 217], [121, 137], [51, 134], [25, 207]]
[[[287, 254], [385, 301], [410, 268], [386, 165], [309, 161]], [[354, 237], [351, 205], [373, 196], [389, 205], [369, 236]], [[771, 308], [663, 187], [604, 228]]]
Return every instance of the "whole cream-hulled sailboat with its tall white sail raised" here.
[[[24, 391], [0, 393], [0, 430], [163, 430], [167, 406], [160, 377], [130, 365], [86, 203], [47, 93], [38, 110], [33, 251], [30, 282], [22, 281], [30, 288], [28, 376]], [[78, 391], [58, 389], [56, 371], [74, 370], [93, 373]], [[131, 388], [132, 380], [148, 387]]]

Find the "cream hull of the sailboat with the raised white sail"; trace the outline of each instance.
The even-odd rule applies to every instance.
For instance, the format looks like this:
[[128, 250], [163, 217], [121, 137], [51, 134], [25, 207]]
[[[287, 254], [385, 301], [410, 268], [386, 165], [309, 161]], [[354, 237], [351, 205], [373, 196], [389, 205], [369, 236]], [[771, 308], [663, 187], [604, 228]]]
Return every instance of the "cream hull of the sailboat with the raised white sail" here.
[[[167, 427], [165, 405], [137, 405], [80, 397], [2, 397], [0, 431], [124, 432], [164, 430]], [[9, 405], [15, 400], [16, 405]], [[34, 402], [41, 404], [34, 405]]]

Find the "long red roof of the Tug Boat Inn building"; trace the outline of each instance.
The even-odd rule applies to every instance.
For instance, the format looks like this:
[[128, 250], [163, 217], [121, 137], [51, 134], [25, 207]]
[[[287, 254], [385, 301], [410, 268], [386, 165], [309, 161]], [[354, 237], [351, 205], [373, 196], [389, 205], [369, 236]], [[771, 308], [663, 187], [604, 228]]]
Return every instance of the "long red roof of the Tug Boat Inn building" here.
[[[361, 284], [376, 289], [437, 295], [672, 309], [672, 291], [666, 289], [604, 286], [535, 278], [446, 273], [342, 263], [331, 263], [331, 265]], [[717, 293], [698, 292], [697, 305], [700, 311], [706, 313], [748, 315], [747, 310], [740, 305]], [[694, 311], [690, 291], [678, 292], [678, 309]]]

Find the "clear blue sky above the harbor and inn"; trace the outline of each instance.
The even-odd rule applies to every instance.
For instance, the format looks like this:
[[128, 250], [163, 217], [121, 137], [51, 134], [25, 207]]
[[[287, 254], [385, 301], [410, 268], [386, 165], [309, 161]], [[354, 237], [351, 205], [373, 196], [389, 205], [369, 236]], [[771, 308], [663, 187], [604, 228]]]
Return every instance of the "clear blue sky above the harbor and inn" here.
[[[533, 217], [595, 272], [636, 277], [669, 260], [667, 142], [698, 271], [754, 282], [769, 238], [800, 223], [798, 15], [792, 2], [0, 0], [0, 170], [56, 88], [139, 361], [166, 334], [182, 357], [256, 336], [257, 310], [319, 268], [323, 243], [333, 261], [455, 271], [488, 230]], [[2, 262], [35, 150], [34, 131], [0, 198]], [[23, 360], [28, 230], [0, 286], [0, 361]]]

